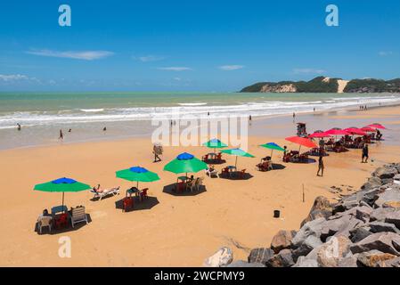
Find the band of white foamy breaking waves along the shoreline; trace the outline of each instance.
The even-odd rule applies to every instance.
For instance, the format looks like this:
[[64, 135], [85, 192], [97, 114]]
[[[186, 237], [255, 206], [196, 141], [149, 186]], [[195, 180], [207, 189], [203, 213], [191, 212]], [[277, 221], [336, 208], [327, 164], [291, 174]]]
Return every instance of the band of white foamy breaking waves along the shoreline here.
[[[300, 96], [301, 94], [299, 94]], [[328, 100], [308, 102], [260, 101], [230, 102], [227, 105], [208, 104], [207, 102], [179, 103], [176, 107], [127, 107], [98, 108], [76, 110], [42, 110], [0, 113], [0, 128], [12, 128], [17, 123], [23, 126], [53, 126], [55, 124], [73, 124], [90, 122], [118, 122], [134, 120], [150, 120], [152, 118], [169, 119], [172, 116], [181, 118], [207, 117], [222, 118], [228, 116], [271, 116], [295, 112], [331, 110], [354, 107], [361, 104], [400, 102], [400, 96], [352, 96], [331, 97]], [[221, 103], [219, 103], [221, 104]]]

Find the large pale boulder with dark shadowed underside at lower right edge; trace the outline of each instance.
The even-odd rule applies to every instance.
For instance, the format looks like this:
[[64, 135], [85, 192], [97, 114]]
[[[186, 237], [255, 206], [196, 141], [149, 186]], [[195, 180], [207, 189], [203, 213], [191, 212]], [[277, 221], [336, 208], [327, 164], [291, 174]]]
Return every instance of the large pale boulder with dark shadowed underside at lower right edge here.
[[376, 232], [350, 247], [353, 254], [380, 250], [395, 256], [400, 256], [400, 235], [394, 232]]

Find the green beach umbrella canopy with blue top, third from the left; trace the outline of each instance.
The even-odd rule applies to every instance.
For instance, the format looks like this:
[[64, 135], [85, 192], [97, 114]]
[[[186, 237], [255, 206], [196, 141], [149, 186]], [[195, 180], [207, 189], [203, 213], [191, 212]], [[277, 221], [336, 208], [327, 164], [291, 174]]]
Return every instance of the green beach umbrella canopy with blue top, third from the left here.
[[168, 162], [164, 170], [175, 174], [185, 173], [187, 176], [188, 173], [196, 173], [206, 168], [207, 164], [204, 161], [184, 152], [178, 155], [176, 159]]

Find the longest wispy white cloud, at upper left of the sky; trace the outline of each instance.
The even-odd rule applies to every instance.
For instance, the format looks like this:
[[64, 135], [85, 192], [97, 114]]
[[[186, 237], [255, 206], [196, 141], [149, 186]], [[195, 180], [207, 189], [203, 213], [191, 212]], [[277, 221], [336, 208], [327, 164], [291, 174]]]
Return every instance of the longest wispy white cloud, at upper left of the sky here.
[[39, 56], [47, 56], [47, 57], [58, 57], [58, 58], [66, 58], [66, 59], [74, 59], [74, 60], [83, 60], [83, 61], [94, 61], [100, 60], [102, 58], [109, 57], [114, 53], [108, 51], [51, 51], [51, 50], [32, 50], [26, 53], [39, 55]]

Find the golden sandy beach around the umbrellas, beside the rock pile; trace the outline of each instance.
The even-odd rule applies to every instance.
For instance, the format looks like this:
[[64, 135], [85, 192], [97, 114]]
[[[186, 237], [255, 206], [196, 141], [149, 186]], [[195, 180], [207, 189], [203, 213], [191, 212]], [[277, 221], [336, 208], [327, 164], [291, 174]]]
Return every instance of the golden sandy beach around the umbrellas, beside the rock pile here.
[[[176, 175], [162, 169], [184, 151], [200, 158], [208, 152], [204, 147], [165, 147], [159, 163], [152, 162], [149, 137], [0, 151], [0, 265], [200, 266], [224, 245], [233, 248], [235, 259], [247, 259], [250, 248], [268, 246], [279, 230], [298, 230], [315, 197], [338, 198], [329, 191], [331, 186], [358, 189], [373, 169], [400, 161], [398, 114], [400, 107], [299, 116], [297, 119], [304, 119], [310, 131], [321, 126], [322, 118], [324, 126], [331, 127], [367, 121], [388, 125], [383, 132], [386, 141], [371, 144], [369, 163], [360, 163], [360, 150], [331, 153], [325, 159], [324, 177], [315, 175], [315, 163], [282, 163], [280, 153], [273, 154], [273, 161], [283, 169], [258, 172], [255, 166], [269, 151], [257, 145], [276, 142], [293, 150], [298, 146], [284, 141], [285, 134], [295, 133], [291, 118], [256, 119], [249, 136], [249, 152], [256, 158], [238, 160], [239, 168], [246, 168], [252, 177], [206, 177], [206, 191], [193, 195], [164, 191], [166, 185], [176, 182]], [[224, 159], [234, 164], [234, 157], [224, 155]], [[125, 196], [132, 183], [116, 178], [115, 171], [135, 165], [158, 173], [161, 179], [142, 183], [141, 187], [149, 187], [150, 199], [140, 208], [123, 213], [116, 208], [116, 201]], [[219, 171], [221, 167], [216, 166]], [[205, 176], [203, 172], [197, 175]], [[67, 206], [86, 206], [91, 222], [74, 231], [39, 235], [34, 231], [37, 216], [44, 208], [59, 205], [61, 193], [33, 191], [33, 186], [62, 176], [90, 185], [121, 186], [122, 191], [101, 201], [92, 201], [89, 191], [66, 193]], [[275, 209], [281, 210], [281, 218], [273, 218]], [[70, 258], [58, 256], [61, 236], [71, 239]]]

